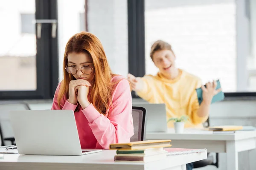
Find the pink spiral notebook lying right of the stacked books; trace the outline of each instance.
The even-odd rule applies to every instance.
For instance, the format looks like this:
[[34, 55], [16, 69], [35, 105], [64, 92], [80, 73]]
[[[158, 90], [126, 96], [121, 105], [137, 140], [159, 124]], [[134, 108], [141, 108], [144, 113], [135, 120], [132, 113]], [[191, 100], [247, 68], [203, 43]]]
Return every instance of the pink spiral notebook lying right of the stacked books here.
[[207, 153], [207, 149], [187, 149], [187, 148], [164, 148], [164, 150], [167, 151], [167, 156], [173, 156], [173, 155], [182, 155], [182, 154], [190, 154], [190, 153]]

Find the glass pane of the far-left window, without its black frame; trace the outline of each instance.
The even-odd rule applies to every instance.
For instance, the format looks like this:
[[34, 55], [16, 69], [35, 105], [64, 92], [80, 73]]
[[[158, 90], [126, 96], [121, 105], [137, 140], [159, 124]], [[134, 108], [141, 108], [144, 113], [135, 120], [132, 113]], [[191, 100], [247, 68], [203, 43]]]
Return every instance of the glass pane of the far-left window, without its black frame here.
[[24, 3], [27, 6], [17, 0], [0, 4], [0, 91], [36, 90], [35, 0]]

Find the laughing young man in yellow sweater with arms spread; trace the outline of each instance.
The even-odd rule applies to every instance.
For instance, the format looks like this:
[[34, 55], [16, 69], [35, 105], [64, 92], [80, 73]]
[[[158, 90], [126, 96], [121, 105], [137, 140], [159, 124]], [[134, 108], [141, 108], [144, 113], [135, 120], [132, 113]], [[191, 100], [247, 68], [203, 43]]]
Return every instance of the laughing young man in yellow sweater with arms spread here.
[[[134, 77], [128, 74], [132, 90], [149, 103], [165, 103], [167, 119], [189, 116], [185, 127], [203, 127], [209, 115], [212, 97], [221, 89], [215, 90], [217, 83], [207, 82], [206, 88], [201, 79], [181, 70], [175, 65], [175, 54], [172, 46], [158, 40], [151, 47], [150, 57], [159, 68], [157, 75]], [[199, 105], [195, 89], [202, 87], [203, 101]], [[168, 127], [172, 127], [171, 122]]]

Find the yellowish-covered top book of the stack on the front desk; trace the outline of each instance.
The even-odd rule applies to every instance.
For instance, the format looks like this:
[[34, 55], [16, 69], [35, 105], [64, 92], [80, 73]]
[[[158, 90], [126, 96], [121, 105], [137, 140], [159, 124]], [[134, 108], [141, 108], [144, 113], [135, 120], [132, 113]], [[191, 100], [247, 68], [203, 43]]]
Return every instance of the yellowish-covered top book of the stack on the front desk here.
[[110, 144], [109, 149], [117, 150], [144, 150], [156, 147], [171, 147], [171, 140], [146, 140], [130, 143]]

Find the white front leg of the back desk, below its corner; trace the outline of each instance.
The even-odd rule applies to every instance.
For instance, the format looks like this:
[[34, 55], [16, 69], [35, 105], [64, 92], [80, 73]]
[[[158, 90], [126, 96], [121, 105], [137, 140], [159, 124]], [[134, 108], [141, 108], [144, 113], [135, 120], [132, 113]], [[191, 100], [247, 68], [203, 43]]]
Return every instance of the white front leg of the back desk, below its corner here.
[[238, 152], [235, 141], [226, 142], [227, 170], [238, 170]]

